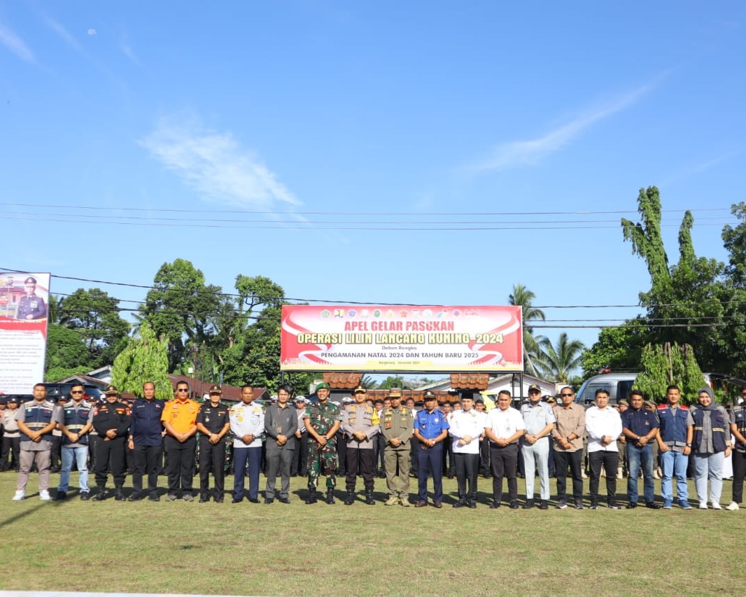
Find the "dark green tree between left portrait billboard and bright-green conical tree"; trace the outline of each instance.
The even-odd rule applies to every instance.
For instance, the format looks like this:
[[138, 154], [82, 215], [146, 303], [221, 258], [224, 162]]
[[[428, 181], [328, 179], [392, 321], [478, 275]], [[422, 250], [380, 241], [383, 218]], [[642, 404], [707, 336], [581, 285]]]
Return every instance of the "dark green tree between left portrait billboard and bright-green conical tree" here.
[[119, 316], [119, 299], [99, 288], [78, 288], [60, 299], [55, 310], [62, 325], [81, 334], [91, 369], [111, 363], [127, 343], [130, 325]]

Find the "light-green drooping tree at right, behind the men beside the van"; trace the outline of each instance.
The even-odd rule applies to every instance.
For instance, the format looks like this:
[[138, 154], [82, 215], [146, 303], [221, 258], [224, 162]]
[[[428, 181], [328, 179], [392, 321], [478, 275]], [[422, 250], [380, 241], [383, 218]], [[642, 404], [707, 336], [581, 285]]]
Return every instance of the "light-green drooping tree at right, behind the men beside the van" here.
[[666, 387], [676, 384], [680, 387], [682, 401], [691, 403], [704, 383], [694, 349], [687, 344], [649, 344], [642, 350], [640, 365], [635, 387], [645, 398], [658, 402], [665, 397]]

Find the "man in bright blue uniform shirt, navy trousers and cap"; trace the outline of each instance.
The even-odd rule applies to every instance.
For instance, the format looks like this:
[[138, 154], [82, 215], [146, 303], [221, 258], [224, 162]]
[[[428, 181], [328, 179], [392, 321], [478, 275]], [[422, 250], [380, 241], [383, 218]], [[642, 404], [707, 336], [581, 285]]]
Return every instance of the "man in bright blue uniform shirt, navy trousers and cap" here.
[[417, 502], [415, 507], [427, 506], [427, 478], [433, 475], [433, 506], [443, 507], [443, 440], [448, 437], [448, 421], [437, 409], [435, 393], [427, 390], [422, 396], [424, 408], [414, 420], [414, 436], [419, 442], [417, 449]]

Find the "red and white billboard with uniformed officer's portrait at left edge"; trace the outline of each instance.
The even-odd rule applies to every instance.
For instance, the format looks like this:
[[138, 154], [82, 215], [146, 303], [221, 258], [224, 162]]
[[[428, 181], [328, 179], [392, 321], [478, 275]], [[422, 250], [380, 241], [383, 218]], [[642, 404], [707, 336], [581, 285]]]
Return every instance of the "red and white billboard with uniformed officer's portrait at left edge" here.
[[30, 394], [44, 381], [48, 273], [0, 274], [0, 392]]

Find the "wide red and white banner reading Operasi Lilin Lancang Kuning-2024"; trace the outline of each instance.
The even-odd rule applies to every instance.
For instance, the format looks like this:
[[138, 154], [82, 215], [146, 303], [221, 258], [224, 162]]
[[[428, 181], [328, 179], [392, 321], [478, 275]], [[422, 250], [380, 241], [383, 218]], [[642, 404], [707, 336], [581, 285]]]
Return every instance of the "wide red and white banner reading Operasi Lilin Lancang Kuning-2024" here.
[[523, 370], [521, 307], [283, 305], [283, 371]]

